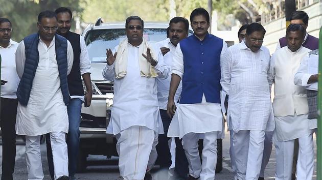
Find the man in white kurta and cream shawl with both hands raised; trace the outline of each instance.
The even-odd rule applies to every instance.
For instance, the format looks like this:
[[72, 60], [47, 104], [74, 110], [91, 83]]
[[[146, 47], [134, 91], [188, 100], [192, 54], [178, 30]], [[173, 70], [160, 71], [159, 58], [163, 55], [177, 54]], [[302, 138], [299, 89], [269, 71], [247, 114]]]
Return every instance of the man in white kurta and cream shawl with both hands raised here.
[[[147, 170], [154, 137], [163, 132], [156, 77], [167, 78], [169, 68], [163, 63], [160, 49], [143, 39], [140, 17], [127, 18], [126, 34], [127, 38], [114, 48], [116, 53], [107, 51], [108, 63], [103, 70], [104, 79], [114, 80], [111, 121], [106, 133], [118, 138], [121, 176], [126, 180], [141, 180]], [[146, 73], [143, 66], [148, 67], [150, 73]]]

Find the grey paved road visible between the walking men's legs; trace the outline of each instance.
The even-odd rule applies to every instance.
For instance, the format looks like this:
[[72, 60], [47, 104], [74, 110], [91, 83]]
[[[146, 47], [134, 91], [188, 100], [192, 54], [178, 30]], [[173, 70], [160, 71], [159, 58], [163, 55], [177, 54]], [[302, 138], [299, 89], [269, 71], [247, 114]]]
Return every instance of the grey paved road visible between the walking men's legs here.
[[[315, 144], [314, 144], [315, 145]], [[27, 179], [27, 166], [25, 158], [25, 144], [21, 139], [17, 139], [17, 153], [16, 153], [16, 164], [15, 164], [15, 180]], [[316, 146], [315, 146], [316, 147]], [[316, 148], [315, 148], [316, 152]], [[41, 145], [41, 156], [42, 166], [45, 174], [44, 180], [51, 180], [47, 158], [46, 158], [46, 147], [45, 144]], [[0, 146], [0, 159], [2, 159], [2, 145]], [[89, 156], [87, 158], [88, 166], [86, 172], [76, 174], [77, 179], [80, 180], [120, 180], [120, 174], [117, 166], [117, 159], [107, 160], [104, 156]], [[316, 163], [316, 159], [315, 159]], [[232, 169], [230, 167], [229, 159], [229, 133], [225, 133], [225, 139], [223, 140], [223, 170], [216, 174], [216, 179], [220, 180], [231, 180], [233, 179]], [[265, 171], [265, 179], [274, 179], [275, 170], [275, 151], [273, 148], [272, 155], [268, 166]], [[1, 168], [0, 168], [1, 172]], [[167, 172], [158, 171], [157, 166], [153, 169], [154, 180], [165, 180], [165, 174]], [[314, 168], [313, 179], [316, 179], [316, 167]]]

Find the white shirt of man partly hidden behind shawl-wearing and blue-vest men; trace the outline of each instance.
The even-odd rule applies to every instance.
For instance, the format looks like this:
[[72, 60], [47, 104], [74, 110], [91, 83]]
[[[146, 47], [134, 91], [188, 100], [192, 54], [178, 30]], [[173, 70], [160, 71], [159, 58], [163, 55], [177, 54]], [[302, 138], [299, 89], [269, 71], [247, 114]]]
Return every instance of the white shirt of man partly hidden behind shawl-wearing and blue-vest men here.
[[[170, 51], [163, 56], [164, 63], [170, 68], [172, 66], [173, 55], [176, 47], [171, 43], [169, 38], [163, 41], [157, 42], [156, 46], [159, 48], [167, 47], [170, 49]], [[167, 79], [156, 78], [156, 81], [157, 81], [157, 99], [159, 103], [159, 108], [163, 110], [167, 110], [171, 75], [169, 75]], [[177, 103], [177, 101], [179, 100], [181, 91], [182, 91], [182, 82], [180, 81], [180, 84], [174, 96], [175, 103]]]

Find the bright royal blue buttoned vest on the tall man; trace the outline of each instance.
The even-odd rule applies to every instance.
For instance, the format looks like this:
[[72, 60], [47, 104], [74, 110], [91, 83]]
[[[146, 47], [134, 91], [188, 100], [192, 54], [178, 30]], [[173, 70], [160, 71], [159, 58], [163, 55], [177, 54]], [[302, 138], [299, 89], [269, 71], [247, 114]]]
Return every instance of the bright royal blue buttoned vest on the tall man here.
[[220, 53], [223, 40], [206, 35], [200, 41], [195, 35], [180, 41], [184, 74], [180, 104], [220, 103]]

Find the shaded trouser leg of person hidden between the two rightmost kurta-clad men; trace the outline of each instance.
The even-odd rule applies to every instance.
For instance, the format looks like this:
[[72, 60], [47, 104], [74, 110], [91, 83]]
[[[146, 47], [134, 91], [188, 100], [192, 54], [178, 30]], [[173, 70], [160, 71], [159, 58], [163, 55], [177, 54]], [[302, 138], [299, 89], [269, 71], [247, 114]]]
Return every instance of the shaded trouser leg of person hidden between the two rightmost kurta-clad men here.
[[264, 140], [264, 151], [263, 151], [263, 160], [262, 160], [262, 167], [260, 171], [260, 177], [265, 177], [264, 172], [265, 168], [269, 162], [270, 154], [272, 152], [273, 147], [273, 134], [274, 131], [266, 131], [265, 132], [265, 140]]

